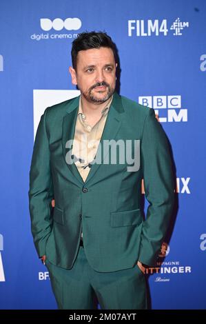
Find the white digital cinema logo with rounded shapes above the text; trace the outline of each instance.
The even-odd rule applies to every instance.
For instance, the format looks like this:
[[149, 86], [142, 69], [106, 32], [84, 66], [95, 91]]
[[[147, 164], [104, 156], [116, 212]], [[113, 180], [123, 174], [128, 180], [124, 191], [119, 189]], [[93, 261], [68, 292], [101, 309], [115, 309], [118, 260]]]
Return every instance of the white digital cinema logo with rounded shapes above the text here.
[[[42, 39], [74, 39], [78, 36], [78, 33], [72, 32], [79, 30], [82, 26], [81, 19], [79, 18], [55, 18], [55, 19], [49, 19], [49, 18], [41, 18], [40, 19], [40, 27], [41, 30], [47, 32], [47, 33], [39, 33], [39, 34], [32, 34], [30, 36], [30, 39], [40, 41]], [[61, 30], [68, 30], [70, 33], [50, 33], [50, 30], [54, 30], [56, 32], [59, 32]]]

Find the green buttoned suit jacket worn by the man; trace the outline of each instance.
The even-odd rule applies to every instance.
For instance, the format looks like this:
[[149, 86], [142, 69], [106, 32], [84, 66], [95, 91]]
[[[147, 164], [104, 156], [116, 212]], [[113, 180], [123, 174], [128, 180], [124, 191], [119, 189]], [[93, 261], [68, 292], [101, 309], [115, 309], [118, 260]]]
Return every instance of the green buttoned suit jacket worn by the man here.
[[[66, 162], [66, 142], [74, 139], [79, 98], [47, 108], [37, 130], [29, 190], [37, 252], [45, 254], [50, 263], [71, 269], [82, 230], [85, 255], [94, 270], [123, 270], [138, 260], [152, 266], [174, 204], [174, 176], [165, 132], [152, 108], [115, 92], [101, 143], [139, 140], [140, 168], [128, 172], [127, 161], [94, 163], [84, 183], [76, 165]], [[142, 179], [150, 203], [145, 219]]]

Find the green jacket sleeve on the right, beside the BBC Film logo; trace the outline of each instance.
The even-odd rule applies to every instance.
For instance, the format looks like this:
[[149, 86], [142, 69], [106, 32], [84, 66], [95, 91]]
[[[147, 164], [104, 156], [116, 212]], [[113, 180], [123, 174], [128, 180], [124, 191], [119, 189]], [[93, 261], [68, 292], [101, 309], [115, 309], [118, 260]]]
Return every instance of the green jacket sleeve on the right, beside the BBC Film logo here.
[[154, 266], [174, 207], [174, 172], [167, 136], [150, 108], [141, 143], [145, 197], [149, 202], [138, 260]]

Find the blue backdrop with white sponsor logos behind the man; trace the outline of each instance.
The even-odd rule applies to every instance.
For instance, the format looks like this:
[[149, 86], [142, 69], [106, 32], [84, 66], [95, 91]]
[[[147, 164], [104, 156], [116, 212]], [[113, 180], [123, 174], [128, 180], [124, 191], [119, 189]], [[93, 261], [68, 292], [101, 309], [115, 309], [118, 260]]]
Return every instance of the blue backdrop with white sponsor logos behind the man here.
[[172, 145], [178, 206], [150, 269], [152, 308], [205, 309], [205, 0], [0, 1], [0, 308], [56, 308], [30, 232], [29, 170], [41, 114], [79, 94], [68, 67], [85, 30], [112, 37], [120, 93], [154, 108]]

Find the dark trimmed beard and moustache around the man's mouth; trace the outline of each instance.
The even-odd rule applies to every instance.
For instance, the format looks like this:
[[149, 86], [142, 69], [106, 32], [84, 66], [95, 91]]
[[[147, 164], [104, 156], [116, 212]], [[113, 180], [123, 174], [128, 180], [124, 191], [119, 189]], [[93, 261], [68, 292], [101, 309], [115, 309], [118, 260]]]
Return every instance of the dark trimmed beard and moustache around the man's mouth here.
[[[106, 90], [107, 92], [104, 97], [99, 98], [99, 97], [96, 97], [95, 94], [92, 94], [92, 90], [94, 88], [101, 87], [103, 85], [107, 87], [107, 90]], [[101, 93], [101, 90], [99, 92]], [[108, 83], [103, 81], [103, 82], [98, 82], [95, 85], [92, 85], [92, 87], [89, 90], [87, 90], [87, 92], [83, 92], [82, 94], [83, 94], [83, 97], [85, 97], [85, 99], [87, 101], [98, 105], [100, 103], [104, 103], [105, 101], [110, 99], [110, 97], [112, 97], [112, 94], [114, 94], [114, 88], [110, 87], [110, 85]]]

